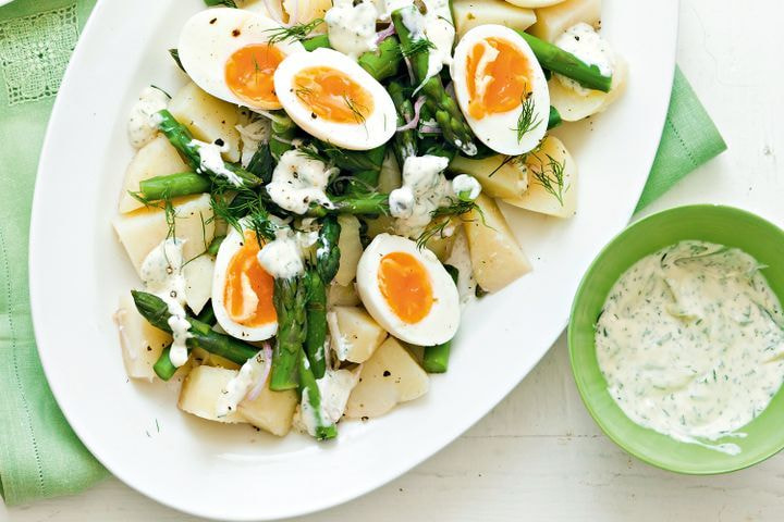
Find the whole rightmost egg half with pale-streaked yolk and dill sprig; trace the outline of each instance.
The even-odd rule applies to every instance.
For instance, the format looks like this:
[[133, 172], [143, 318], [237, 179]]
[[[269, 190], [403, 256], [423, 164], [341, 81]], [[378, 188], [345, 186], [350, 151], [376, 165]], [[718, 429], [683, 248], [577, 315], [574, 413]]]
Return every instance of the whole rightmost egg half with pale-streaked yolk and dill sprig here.
[[518, 156], [544, 137], [550, 92], [528, 44], [503, 25], [480, 25], [457, 44], [451, 67], [457, 103], [474, 134], [497, 152]]

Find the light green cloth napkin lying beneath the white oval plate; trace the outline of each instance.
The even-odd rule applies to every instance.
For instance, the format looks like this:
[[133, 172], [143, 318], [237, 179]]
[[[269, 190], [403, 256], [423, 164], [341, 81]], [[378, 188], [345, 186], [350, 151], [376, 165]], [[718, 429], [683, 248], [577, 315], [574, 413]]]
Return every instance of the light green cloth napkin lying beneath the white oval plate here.
[[[0, 493], [9, 505], [81, 492], [108, 475], [76, 438], [44, 376], [27, 285], [30, 201], [41, 140], [96, 0], [0, 8]], [[725, 149], [679, 71], [640, 207]]]

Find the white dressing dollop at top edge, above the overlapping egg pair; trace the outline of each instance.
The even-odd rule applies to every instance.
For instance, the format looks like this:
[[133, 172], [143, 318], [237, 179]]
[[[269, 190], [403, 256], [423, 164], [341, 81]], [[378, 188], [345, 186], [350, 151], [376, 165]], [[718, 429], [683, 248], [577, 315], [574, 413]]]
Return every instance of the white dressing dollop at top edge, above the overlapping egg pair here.
[[332, 49], [354, 59], [366, 51], [375, 51], [376, 18], [378, 10], [370, 0], [354, 5], [353, 0], [335, 0], [327, 11], [327, 23], [330, 46]]

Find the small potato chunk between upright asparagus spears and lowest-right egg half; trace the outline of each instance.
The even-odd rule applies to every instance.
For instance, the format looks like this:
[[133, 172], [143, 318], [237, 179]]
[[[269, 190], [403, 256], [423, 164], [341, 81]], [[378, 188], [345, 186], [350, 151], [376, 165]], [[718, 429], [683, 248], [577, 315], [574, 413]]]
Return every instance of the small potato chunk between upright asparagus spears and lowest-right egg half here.
[[327, 323], [341, 361], [365, 362], [387, 338], [387, 332], [362, 308], [335, 307], [327, 313]]

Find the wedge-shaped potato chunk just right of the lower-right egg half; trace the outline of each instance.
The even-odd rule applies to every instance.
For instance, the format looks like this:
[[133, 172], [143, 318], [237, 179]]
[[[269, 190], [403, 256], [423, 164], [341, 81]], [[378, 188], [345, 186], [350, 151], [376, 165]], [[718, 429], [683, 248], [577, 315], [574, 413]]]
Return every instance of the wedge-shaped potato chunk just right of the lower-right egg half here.
[[465, 221], [474, 276], [483, 290], [498, 291], [531, 265], [495, 201], [482, 194], [476, 202], [481, 212], [473, 210]]

